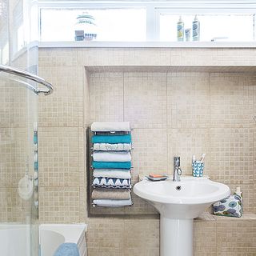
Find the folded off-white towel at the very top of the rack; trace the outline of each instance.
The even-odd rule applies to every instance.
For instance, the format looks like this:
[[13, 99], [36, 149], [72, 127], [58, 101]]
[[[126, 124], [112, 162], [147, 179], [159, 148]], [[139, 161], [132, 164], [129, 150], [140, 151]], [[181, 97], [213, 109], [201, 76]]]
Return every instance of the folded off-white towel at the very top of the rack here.
[[93, 122], [92, 131], [130, 131], [130, 122]]

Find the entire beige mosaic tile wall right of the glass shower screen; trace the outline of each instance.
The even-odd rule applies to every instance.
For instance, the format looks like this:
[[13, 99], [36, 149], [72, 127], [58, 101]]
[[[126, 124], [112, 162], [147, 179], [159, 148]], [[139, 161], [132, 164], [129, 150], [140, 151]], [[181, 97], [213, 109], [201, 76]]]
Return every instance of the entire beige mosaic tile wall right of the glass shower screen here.
[[[159, 255], [158, 219], [87, 218], [84, 130], [94, 120], [131, 122], [137, 178], [171, 174], [174, 154], [190, 174], [192, 154], [205, 152], [206, 174], [232, 190], [241, 186], [245, 211], [253, 213], [254, 75], [152, 73], [145, 66], [246, 66], [256, 64], [254, 55], [250, 49], [40, 49], [39, 74], [55, 88], [39, 99], [40, 220], [88, 223], [89, 256]], [[88, 65], [98, 72], [86, 72]], [[144, 72], [102, 72], [101, 66], [120, 65], [143, 65]], [[254, 220], [199, 219], [194, 227], [196, 256], [255, 255]]]

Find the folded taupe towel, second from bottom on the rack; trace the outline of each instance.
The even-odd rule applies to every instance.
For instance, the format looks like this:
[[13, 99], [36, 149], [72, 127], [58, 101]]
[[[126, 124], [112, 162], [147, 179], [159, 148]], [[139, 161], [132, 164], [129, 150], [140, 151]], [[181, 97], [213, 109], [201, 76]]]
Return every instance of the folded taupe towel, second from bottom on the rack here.
[[93, 199], [118, 199], [118, 200], [128, 200], [130, 199], [130, 190], [120, 190], [120, 189], [97, 189], [93, 190], [91, 194]]

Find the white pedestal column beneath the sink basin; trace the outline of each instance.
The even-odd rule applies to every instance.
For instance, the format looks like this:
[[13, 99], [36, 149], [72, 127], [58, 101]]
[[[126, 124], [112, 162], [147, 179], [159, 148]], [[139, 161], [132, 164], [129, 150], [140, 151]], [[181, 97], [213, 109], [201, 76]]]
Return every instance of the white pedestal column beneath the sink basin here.
[[161, 216], [161, 256], [193, 256], [193, 242], [193, 218], [174, 219]]

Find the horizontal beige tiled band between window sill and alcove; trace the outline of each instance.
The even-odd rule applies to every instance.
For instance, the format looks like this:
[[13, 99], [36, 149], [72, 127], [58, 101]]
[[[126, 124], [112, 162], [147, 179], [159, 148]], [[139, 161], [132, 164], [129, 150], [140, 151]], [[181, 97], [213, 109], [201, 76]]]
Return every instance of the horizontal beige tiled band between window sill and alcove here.
[[[254, 71], [255, 48], [152, 48], [152, 47], [41, 47], [41, 66], [87, 66], [91, 70], [191, 70], [204, 67], [227, 71]], [[200, 70], [200, 71], [201, 71]], [[118, 70], [119, 71], [119, 70]], [[194, 70], [193, 70], [194, 71]], [[215, 71], [215, 70], [214, 70]]]

